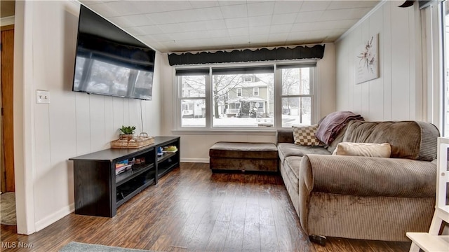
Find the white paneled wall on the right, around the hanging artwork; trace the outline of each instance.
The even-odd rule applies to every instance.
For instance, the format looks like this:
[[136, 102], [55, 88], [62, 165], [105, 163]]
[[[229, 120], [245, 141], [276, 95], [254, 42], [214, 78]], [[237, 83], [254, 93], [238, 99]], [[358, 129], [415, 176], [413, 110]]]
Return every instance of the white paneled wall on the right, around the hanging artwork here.
[[[335, 43], [337, 110], [361, 113], [366, 120], [421, 120], [417, 19], [417, 8], [398, 8], [396, 1], [384, 1]], [[375, 34], [379, 34], [380, 78], [356, 84], [356, 48]]]

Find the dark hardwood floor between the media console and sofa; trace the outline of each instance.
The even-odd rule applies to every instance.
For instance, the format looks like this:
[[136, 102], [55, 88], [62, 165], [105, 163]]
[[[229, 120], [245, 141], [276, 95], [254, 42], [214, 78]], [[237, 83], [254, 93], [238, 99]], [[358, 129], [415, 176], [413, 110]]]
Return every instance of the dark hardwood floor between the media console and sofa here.
[[[304, 235], [279, 175], [212, 174], [182, 163], [117, 210], [114, 218], [69, 214], [32, 235], [1, 225], [1, 251], [58, 251], [70, 241], [154, 251], [408, 251], [410, 242]], [[32, 245], [5, 248], [8, 244]]]

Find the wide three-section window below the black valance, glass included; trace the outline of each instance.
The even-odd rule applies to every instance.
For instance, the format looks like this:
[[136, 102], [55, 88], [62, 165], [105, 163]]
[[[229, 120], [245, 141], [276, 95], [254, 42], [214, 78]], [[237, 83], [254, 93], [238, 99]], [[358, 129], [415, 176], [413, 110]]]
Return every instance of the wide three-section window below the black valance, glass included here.
[[[276, 69], [276, 70], [275, 70]], [[241, 129], [311, 124], [313, 64], [176, 69], [177, 129]], [[277, 112], [276, 114], [276, 111]]]

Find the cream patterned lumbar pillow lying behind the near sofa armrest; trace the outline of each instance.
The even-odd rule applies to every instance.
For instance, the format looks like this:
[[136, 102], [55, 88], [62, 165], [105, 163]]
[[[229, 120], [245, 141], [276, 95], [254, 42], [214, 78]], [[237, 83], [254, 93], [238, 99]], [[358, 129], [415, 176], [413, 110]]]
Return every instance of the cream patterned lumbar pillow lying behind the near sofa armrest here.
[[355, 155], [363, 157], [389, 158], [391, 146], [388, 143], [349, 143], [342, 142], [337, 145], [332, 155]]

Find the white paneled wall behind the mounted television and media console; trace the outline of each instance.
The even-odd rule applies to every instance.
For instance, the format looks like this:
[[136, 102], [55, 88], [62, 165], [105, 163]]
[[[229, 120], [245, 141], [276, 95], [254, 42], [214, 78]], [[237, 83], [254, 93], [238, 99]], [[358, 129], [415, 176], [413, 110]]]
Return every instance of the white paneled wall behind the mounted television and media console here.
[[[15, 167], [15, 186], [18, 207], [26, 208], [18, 210], [18, 232], [32, 233], [74, 209], [69, 158], [109, 148], [121, 125], [161, 134], [161, 54], [156, 53], [152, 101], [72, 92], [79, 3], [19, 5], [15, 57], [23, 62], [15, 65], [15, 163], [24, 165]], [[50, 104], [36, 104], [36, 90], [48, 90]], [[32, 102], [21, 97], [32, 97]], [[25, 146], [32, 147], [25, 152]]]

